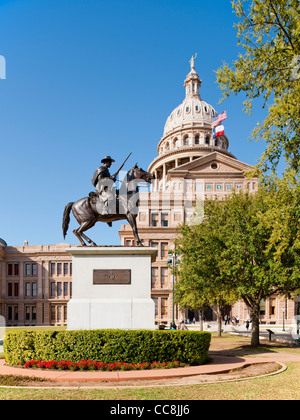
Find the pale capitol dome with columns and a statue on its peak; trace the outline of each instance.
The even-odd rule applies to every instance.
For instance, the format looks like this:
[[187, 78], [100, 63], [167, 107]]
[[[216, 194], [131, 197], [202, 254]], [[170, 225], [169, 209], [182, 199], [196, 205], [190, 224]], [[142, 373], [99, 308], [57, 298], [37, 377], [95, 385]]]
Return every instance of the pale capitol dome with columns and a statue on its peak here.
[[235, 159], [228, 151], [227, 136], [213, 136], [213, 122], [218, 113], [200, 96], [202, 80], [195, 71], [195, 58], [190, 61], [191, 71], [184, 81], [185, 98], [168, 116], [157, 146], [158, 156], [148, 168], [156, 179], [163, 179], [170, 169], [214, 151]]

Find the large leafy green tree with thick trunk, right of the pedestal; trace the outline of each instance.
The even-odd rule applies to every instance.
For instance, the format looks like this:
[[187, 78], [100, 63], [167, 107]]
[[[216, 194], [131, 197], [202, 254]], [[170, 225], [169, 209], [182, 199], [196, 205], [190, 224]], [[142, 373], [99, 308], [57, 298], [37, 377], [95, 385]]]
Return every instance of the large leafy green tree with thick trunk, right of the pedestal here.
[[300, 287], [299, 220], [299, 186], [287, 178], [270, 178], [255, 194], [208, 200], [201, 225], [180, 227], [175, 293], [186, 287], [209, 302], [242, 299], [251, 344], [258, 345], [261, 301], [274, 293], [290, 297]]

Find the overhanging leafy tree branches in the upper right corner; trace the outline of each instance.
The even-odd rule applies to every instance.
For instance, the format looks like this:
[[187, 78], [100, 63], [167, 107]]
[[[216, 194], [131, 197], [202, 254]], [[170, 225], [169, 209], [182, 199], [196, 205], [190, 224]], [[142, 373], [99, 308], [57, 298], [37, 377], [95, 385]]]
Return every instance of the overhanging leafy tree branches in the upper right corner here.
[[264, 140], [259, 162], [264, 171], [276, 170], [281, 158], [287, 169], [300, 169], [300, 2], [299, 0], [235, 0], [235, 25], [243, 48], [232, 66], [217, 71], [223, 99], [244, 92], [244, 110], [263, 99], [268, 113], [253, 131]]

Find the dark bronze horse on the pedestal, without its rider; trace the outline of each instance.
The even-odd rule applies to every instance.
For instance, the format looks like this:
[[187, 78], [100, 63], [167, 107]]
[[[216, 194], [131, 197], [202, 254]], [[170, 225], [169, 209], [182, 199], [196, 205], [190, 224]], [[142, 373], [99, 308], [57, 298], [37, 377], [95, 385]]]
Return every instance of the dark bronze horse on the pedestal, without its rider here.
[[[154, 175], [139, 168], [137, 164], [127, 172], [120, 191], [115, 192], [115, 211], [112, 214], [102, 215], [99, 204], [96, 206], [95, 201], [92, 197], [84, 197], [76, 202], [72, 202], [66, 205], [63, 215], [63, 235], [66, 237], [69, 223], [70, 223], [70, 212], [72, 213], [79, 223], [79, 228], [74, 229], [73, 233], [79, 239], [82, 246], [86, 246], [84, 239], [91, 245], [97, 246], [90, 238], [88, 238], [83, 232], [92, 228], [96, 222], [105, 222], [111, 226], [111, 222], [117, 220], [126, 219], [132, 228], [137, 246], [143, 246], [138, 235], [136, 218], [138, 215], [138, 184], [141, 181], [151, 183], [154, 179]], [[99, 203], [99, 198], [98, 198]]]

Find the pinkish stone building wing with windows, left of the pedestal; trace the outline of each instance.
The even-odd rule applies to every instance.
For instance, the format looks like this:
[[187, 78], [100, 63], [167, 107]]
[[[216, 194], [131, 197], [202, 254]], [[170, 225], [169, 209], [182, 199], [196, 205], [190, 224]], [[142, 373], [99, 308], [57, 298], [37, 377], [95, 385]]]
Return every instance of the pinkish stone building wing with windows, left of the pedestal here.
[[72, 259], [66, 248], [0, 242], [0, 315], [7, 326], [66, 324], [72, 296]]

